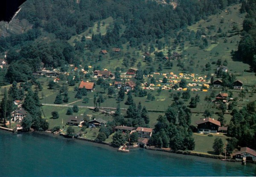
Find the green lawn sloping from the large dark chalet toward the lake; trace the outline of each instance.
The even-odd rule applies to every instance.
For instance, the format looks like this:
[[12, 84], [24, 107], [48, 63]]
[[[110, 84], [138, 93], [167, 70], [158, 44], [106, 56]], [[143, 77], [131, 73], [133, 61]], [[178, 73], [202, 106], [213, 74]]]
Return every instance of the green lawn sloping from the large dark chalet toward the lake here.
[[214, 150], [212, 148], [213, 142], [216, 137], [219, 137], [222, 139], [223, 144], [225, 144], [225, 141], [227, 139], [227, 136], [224, 136], [223, 134], [213, 134], [213, 136], [208, 136], [200, 133], [193, 133], [193, 137], [195, 139], [195, 149], [196, 152], [204, 152], [208, 154], [214, 154]]

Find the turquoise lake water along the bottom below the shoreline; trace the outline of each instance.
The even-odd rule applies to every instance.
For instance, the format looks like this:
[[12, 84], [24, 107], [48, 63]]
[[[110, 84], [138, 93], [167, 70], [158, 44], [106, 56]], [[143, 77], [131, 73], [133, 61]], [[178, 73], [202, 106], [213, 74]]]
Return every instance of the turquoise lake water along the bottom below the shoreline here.
[[256, 165], [0, 131], [0, 177], [256, 176]]

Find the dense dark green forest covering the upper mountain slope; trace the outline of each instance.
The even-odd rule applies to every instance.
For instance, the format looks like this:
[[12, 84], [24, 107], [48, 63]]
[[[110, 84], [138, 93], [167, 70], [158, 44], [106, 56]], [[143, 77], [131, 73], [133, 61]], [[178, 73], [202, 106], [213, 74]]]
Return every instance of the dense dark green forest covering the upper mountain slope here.
[[[88, 52], [94, 52], [98, 48], [122, 47], [127, 42], [131, 47], [139, 47], [160, 38], [168, 41], [168, 38], [176, 37], [180, 29], [239, 2], [180, 0], [173, 9], [170, 5], [144, 0], [28, 0], [17, 18], [28, 20], [33, 28], [20, 35], [0, 38], [0, 52], [8, 51], [7, 61], [10, 64], [7, 71], [0, 71], [1, 85], [31, 79], [32, 72], [40, 68], [41, 61], [45, 67], [61, 67], [62, 71], [66, 70], [67, 64], [79, 65], [81, 57], [76, 54], [84, 49], [83, 46]], [[114, 24], [105, 35], [95, 34], [91, 40], [76, 41], [75, 46], [67, 43], [71, 36], [84, 32], [96, 21], [107, 17], [113, 17]], [[125, 26], [124, 31], [121, 31], [122, 26]], [[190, 38], [196, 38], [202, 33], [188, 34]], [[182, 41], [182, 38], [177, 38], [177, 41]], [[85, 59], [90, 62], [89, 56]]]

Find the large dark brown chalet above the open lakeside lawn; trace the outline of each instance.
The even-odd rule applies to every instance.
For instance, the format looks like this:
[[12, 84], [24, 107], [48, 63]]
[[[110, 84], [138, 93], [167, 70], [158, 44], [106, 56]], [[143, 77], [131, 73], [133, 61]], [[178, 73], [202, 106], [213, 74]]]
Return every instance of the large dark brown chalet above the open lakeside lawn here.
[[217, 133], [221, 122], [210, 117], [195, 122], [198, 125], [199, 133]]

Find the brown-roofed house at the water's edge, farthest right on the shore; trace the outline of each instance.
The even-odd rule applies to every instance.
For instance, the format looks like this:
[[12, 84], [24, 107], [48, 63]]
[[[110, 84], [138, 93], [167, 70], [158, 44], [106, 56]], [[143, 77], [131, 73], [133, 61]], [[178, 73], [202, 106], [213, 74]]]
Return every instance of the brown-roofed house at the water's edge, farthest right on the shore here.
[[247, 147], [243, 147], [240, 149], [240, 151], [236, 151], [233, 154], [233, 159], [243, 159], [243, 158], [246, 158], [246, 160], [249, 160], [249, 161], [256, 161], [256, 151]]

